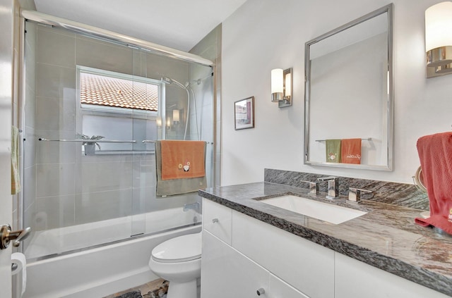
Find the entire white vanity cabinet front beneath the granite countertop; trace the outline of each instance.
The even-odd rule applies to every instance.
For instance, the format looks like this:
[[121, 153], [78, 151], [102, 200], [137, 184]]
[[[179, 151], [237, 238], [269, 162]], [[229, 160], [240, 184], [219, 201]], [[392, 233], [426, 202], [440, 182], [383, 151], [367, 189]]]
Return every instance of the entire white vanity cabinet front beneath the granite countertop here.
[[213, 297], [448, 296], [203, 199], [201, 298]]

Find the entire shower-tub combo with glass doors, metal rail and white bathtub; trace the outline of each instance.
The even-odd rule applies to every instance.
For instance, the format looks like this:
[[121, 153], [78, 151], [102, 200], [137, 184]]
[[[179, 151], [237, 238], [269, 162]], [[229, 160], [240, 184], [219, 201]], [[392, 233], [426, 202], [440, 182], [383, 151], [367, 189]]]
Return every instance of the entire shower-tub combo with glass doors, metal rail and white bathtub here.
[[[148, 267], [152, 249], [200, 232], [201, 201], [196, 193], [156, 196], [154, 143], [213, 144], [213, 62], [52, 15], [22, 16], [27, 75], [20, 129], [27, 142], [18, 214], [32, 228], [23, 242], [23, 297], [104, 297], [157, 279]], [[86, 87], [83, 74], [90, 83], [120, 85], [111, 97], [132, 94], [134, 103], [153, 104], [85, 101], [84, 92], [100, 94]], [[88, 153], [88, 143], [100, 144]], [[208, 146], [208, 187], [213, 152]]]

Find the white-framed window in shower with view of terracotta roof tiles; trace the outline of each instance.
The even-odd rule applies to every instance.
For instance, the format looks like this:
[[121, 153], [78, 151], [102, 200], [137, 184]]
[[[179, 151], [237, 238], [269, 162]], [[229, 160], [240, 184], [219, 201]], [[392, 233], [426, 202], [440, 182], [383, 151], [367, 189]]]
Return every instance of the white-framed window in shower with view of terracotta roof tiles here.
[[[76, 68], [76, 101], [80, 105], [76, 111], [83, 132], [77, 136], [98, 139], [84, 144], [85, 155], [145, 150], [143, 141], [126, 142], [131, 130], [135, 139], [157, 139], [155, 126], [160, 119], [158, 107], [165, 101], [162, 97], [165, 83], [97, 68]], [[105, 135], [109, 139], [105, 139]]]

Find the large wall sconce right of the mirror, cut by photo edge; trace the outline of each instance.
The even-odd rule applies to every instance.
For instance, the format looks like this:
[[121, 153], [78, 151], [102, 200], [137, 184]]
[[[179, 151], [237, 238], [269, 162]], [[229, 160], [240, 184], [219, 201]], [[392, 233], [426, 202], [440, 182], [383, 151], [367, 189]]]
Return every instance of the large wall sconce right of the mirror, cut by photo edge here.
[[425, 11], [427, 77], [452, 73], [452, 2], [430, 6]]

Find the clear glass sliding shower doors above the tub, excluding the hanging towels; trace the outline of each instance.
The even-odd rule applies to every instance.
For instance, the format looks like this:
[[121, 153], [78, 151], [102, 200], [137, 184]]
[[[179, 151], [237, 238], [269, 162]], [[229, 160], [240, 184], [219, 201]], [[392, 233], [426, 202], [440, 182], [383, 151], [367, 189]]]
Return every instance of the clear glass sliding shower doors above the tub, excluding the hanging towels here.
[[[198, 209], [183, 208], [201, 203], [196, 192], [155, 195], [154, 141], [213, 142], [212, 68], [36, 23], [25, 28], [23, 225], [33, 231], [27, 258], [199, 223]], [[127, 97], [127, 104], [99, 104], [93, 94], [83, 100], [83, 75], [127, 80], [129, 87], [108, 93], [97, 86], [93, 93]], [[94, 143], [99, 147], [88, 154], [85, 145]]]

